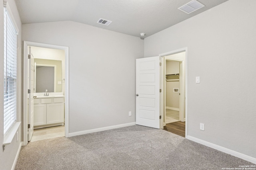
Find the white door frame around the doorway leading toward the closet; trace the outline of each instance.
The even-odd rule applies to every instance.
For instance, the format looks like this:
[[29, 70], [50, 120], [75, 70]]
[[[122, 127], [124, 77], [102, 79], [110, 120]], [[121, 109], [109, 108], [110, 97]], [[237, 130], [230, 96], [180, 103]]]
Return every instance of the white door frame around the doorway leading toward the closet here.
[[[160, 62], [162, 63], [162, 66], [160, 67], [160, 88], [163, 90], [162, 93], [160, 93], [160, 115], [162, 115], [162, 117], [164, 117], [164, 97], [165, 97], [165, 92], [164, 92], [164, 81], [165, 81], [165, 75], [164, 75], [164, 64], [165, 64], [165, 57], [169, 56], [169, 55], [173, 55], [173, 54], [177, 54], [177, 53], [181, 53], [181, 52], [185, 52], [186, 54], [186, 58], [185, 58], [185, 66], [184, 66], [184, 61], [181, 59], [171, 59], [170, 57], [168, 59], [174, 60], [174, 61], [180, 61], [182, 62], [183, 66], [182, 66], [182, 72], [185, 72], [185, 87], [182, 87], [181, 84], [181, 88], [183, 88], [183, 91], [185, 90], [185, 95], [181, 95], [181, 101], [183, 102], [183, 106], [184, 106], [184, 102], [185, 102], [185, 138], [187, 138], [188, 135], [188, 47], [184, 47], [181, 49], [177, 49], [174, 51], [169, 51], [166, 53], [162, 53], [159, 54], [160, 57]], [[185, 89], [184, 89], [185, 88]], [[184, 107], [183, 107], [184, 108]], [[164, 128], [164, 119], [160, 119], [160, 127], [161, 129]]]

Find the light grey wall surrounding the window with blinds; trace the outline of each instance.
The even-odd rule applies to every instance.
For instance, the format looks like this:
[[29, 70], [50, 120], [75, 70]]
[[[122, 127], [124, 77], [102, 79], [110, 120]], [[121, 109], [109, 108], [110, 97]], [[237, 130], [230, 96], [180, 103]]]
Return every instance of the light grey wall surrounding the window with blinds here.
[[[15, 22], [18, 26], [18, 29], [20, 31], [19, 35], [17, 36], [17, 121], [21, 121], [21, 98], [22, 98], [22, 88], [21, 88], [21, 66], [22, 66], [22, 59], [21, 59], [21, 21], [20, 16], [18, 14], [18, 10], [16, 8], [16, 4], [14, 0], [7, 0], [8, 5], [10, 6], [11, 12], [14, 16]], [[3, 1], [1, 3], [1, 6], [3, 7]], [[0, 12], [0, 75], [4, 75], [3, 65], [4, 65], [4, 10], [2, 8]], [[4, 82], [3, 76], [0, 76], [0, 89], [4, 89]], [[3, 90], [0, 90], [0, 143], [3, 143], [4, 139], [4, 94]], [[16, 141], [16, 136], [14, 137], [12, 143], [10, 145], [6, 145], [5, 149], [3, 150], [2, 146], [0, 147], [0, 167], [3, 170], [10, 170], [12, 168], [12, 165], [14, 163], [16, 154], [19, 150], [20, 146], [20, 135], [21, 135], [21, 128], [18, 129], [18, 141]]]

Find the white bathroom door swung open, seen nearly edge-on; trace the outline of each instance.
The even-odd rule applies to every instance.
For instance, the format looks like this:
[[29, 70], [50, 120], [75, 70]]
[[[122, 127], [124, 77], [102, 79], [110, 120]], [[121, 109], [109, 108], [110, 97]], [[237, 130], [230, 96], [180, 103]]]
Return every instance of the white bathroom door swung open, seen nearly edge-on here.
[[34, 57], [31, 54], [31, 47], [28, 47], [28, 141], [31, 140], [34, 132]]

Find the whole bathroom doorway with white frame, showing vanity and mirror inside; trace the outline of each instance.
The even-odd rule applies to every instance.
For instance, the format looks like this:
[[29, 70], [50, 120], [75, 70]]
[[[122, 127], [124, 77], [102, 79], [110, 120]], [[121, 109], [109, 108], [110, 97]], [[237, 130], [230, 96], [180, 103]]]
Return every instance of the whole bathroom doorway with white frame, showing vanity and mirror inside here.
[[23, 140], [68, 137], [68, 47], [24, 41]]

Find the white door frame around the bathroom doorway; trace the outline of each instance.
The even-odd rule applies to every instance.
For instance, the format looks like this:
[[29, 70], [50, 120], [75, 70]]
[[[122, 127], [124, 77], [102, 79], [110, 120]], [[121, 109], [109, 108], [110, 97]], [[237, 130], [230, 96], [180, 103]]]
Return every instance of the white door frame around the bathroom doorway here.
[[28, 144], [28, 46], [65, 51], [65, 137], [69, 137], [69, 47], [23, 41], [23, 146]]

